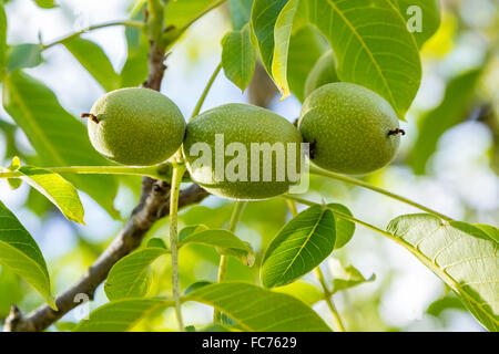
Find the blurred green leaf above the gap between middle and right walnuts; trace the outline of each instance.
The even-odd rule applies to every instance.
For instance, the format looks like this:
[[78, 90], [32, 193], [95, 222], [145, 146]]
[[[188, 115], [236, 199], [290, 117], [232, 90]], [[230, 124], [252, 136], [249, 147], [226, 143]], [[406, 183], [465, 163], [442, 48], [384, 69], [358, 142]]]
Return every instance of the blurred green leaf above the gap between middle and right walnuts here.
[[293, 94], [305, 100], [305, 82], [314, 64], [329, 49], [327, 40], [312, 24], [292, 34], [287, 61], [287, 81]]

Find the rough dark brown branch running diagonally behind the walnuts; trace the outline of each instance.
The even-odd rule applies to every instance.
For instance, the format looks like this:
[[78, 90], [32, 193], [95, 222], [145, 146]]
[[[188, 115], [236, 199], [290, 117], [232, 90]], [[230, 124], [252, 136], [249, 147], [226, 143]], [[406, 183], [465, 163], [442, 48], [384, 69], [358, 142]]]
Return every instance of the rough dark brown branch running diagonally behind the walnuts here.
[[[163, 81], [165, 53], [155, 42], [151, 42], [149, 56], [150, 73], [144, 83], [145, 87], [160, 91]], [[179, 208], [200, 202], [208, 192], [192, 185], [180, 194]], [[135, 250], [144, 239], [147, 231], [159, 219], [170, 214], [169, 206], [170, 185], [165, 181], [144, 177], [139, 205], [132, 211], [123, 230], [112, 241], [108, 249], [95, 260], [88, 272], [71, 288], [55, 298], [58, 311], [42, 305], [24, 316], [18, 306], [12, 305], [6, 319], [6, 332], [38, 332], [48, 329], [72, 309], [81, 304], [75, 298], [85, 294], [93, 300], [96, 288], [106, 279], [111, 268], [123, 257]]]

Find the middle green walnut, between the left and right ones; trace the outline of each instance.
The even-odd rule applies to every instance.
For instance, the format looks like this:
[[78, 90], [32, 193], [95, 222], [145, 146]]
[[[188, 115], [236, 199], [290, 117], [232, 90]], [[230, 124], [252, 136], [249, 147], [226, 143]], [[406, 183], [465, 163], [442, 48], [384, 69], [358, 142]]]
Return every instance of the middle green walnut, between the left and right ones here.
[[258, 200], [299, 180], [302, 136], [282, 116], [247, 104], [206, 111], [187, 124], [183, 145], [191, 177], [227, 199]]

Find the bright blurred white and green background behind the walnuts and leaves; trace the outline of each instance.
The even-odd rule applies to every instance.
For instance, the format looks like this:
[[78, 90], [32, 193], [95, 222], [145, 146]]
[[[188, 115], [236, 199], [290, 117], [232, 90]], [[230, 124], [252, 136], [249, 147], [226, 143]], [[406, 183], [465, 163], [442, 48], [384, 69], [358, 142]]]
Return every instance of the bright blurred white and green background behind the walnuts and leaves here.
[[[58, 0], [58, 8], [41, 9], [31, 0], [6, 3], [8, 42], [43, 43], [91, 24], [130, 17], [133, 1]], [[499, 3], [493, 0], [444, 0], [442, 21], [437, 34], [424, 46], [424, 77], [418, 96], [403, 128], [399, 154], [389, 167], [365, 177], [452, 218], [472, 223], [499, 221]], [[231, 29], [226, 7], [196, 22], [172, 48], [162, 92], [185, 116], [193, 111], [201, 92], [221, 59], [221, 40]], [[84, 34], [99, 43], [116, 71], [126, 60], [123, 28], [106, 28]], [[88, 112], [104, 92], [62, 45], [43, 52], [43, 63], [27, 72], [41, 80], [74, 116]], [[0, 88], [1, 90], [1, 88]], [[262, 97], [262, 93], [265, 93]], [[259, 94], [259, 96], [257, 95]], [[277, 91], [256, 75], [252, 86], [241, 91], [218, 75], [203, 110], [230, 102], [257, 102], [289, 121], [301, 111], [295, 97], [279, 102]], [[0, 108], [0, 165], [16, 156], [34, 152], [23, 133]], [[39, 243], [49, 262], [54, 291], [74, 282], [122, 227], [138, 201], [140, 178], [121, 185], [114, 207], [120, 218], [111, 218], [91, 198], [81, 194], [86, 226], [70, 223], [37, 191], [23, 185], [12, 191], [0, 181], [0, 199], [11, 209]], [[398, 215], [418, 212], [404, 204], [325, 178], [313, 178], [308, 199], [340, 202], [358, 218], [380, 228]], [[232, 205], [210, 197], [202, 205], [183, 210], [182, 225], [205, 223], [224, 227]], [[291, 218], [281, 200], [252, 202], [246, 208], [237, 235], [261, 257], [262, 250]], [[165, 237], [167, 220], [159, 222], [149, 237]], [[353, 264], [376, 280], [335, 295], [350, 331], [482, 331], [444, 283], [399, 246], [369, 230], [357, 228], [350, 243], [323, 264], [326, 273], [340, 261]], [[258, 259], [257, 259], [258, 262]], [[170, 294], [170, 259], [154, 263], [151, 295]], [[216, 280], [218, 256], [202, 246], [181, 252], [181, 281], [185, 289], [196, 280]], [[258, 283], [256, 267], [248, 269], [231, 259], [228, 279]], [[304, 279], [316, 284], [314, 277]], [[0, 266], [0, 323], [12, 303], [29, 312], [43, 300], [27, 283]], [[94, 309], [106, 302], [102, 287]], [[324, 302], [314, 309], [330, 324]], [[69, 313], [51, 330], [64, 330], [78, 322], [81, 310]], [[189, 303], [187, 324], [207, 324], [207, 306]], [[175, 329], [167, 310], [141, 323], [138, 330]], [[1, 326], [1, 324], [0, 324]]]

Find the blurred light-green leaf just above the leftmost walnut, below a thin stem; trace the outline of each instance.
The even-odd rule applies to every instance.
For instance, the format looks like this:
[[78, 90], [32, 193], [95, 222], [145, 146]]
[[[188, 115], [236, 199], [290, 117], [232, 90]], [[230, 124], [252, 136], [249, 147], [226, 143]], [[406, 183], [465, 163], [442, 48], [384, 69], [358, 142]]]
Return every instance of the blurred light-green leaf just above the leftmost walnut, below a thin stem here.
[[62, 44], [105, 91], [120, 87], [121, 77], [99, 44], [80, 37], [64, 41]]

